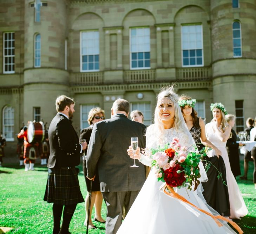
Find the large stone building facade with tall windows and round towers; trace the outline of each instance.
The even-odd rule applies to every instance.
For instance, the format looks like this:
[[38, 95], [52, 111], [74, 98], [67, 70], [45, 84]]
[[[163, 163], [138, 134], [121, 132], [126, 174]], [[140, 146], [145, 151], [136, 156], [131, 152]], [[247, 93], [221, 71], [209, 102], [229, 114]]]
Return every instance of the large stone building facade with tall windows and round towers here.
[[149, 125], [176, 83], [206, 122], [222, 102], [241, 131], [256, 115], [255, 38], [255, 0], [0, 0], [0, 130], [13, 149], [22, 122], [50, 124], [61, 94], [78, 133], [117, 98]]

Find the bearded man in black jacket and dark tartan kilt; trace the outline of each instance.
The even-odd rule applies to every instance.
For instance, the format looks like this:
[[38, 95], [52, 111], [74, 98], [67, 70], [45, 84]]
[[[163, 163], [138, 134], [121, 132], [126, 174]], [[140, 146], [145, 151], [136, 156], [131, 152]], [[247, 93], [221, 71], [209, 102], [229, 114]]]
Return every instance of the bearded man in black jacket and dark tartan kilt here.
[[58, 113], [48, 130], [50, 156], [44, 201], [53, 203], [53, 234], [69, 234], [68, 228], [76, 206], [84, 202], [78, 181], [79, 170], [75, 166], [79, 165], [80, 153], [87, 143], [79, 145], [77, 133], [70, 121], [75, 111], [74, 100], [61, 95], [55, 105]]

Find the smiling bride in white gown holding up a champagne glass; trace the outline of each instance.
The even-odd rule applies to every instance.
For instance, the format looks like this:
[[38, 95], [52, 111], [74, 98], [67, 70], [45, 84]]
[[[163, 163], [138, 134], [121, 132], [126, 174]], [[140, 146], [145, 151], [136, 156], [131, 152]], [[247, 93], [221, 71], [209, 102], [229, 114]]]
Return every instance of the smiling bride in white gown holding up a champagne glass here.
[[[179, 138], [180, 145], [190, 147], [195, 142], [183, 119], [177, 102], [178, 95], [172, 87], [167, 87], [158, 94], [157, 98], [155, 124], [150, 125], [146, 131], [146, 148], [154, 148], [166, 142], [171, 142], [174, 137]], [[131, 147], [127, 152], [132, 158]], [[151, 166], [151, 159], [140, 154], [139, 148], [135, 158], [139, 159], [144, 165]], [[207, 181], [203, 167], [200, 168], [200, 173], [201, 181]], [[163, 182], [157, 182], [156, 175], [151, 170], [121, 227], [118, 229], [118, 234], [235, 233], [226, 222], [221, 221], [223, 226], [219, 227], [210, 216], [164, 194], [159, 190], [162, 185]], [[176, 188], [175, 190], [197, 207], [217, 215], [213, 209], [205, 204], [200, 189], [189, 191], [186, 188]]]

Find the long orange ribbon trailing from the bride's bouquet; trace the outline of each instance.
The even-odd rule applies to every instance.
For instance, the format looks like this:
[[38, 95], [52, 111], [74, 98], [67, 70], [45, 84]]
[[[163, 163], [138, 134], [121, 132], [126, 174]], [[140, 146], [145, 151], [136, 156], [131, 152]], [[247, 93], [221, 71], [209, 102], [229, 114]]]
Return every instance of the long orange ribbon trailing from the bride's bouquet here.
[[[165, 190], [166, 188], [167, 188], [170, 192], [167, 192], [167, 191]], [[211, 213], [209, 213], [209, 212], [207, 212], [207, 211], [205, 211], [205, 210], [203, 210], [203, 209], [198, 208], [197, 206], [195, 206], [194, 204], [192, 204], [191, 202], [189, 202], [188, 200], [186, 200], [183, 196], [180, 196], [178, 193], [176, 193], [176, 192], [173, 190], [173, 188], [170, 187], [169, 185], [165, 185], [165, 186], [163, 187], [163, 191], [164, 191], [165, 194], [167, 194], [167, 195], [169, 195], [169, 196], [171, 196], [171, 197], [173, 197], [173, 198], [177, 198], [177, 199], [179, 199], [179, 200], [181, 200], [181, 201], [183, 201], [183, 202], [186, 202], [186, 203], [188, 203], [189, 205], [191, 205], [192, 207], [195, 207], [196, 209], [200, 210], [200, 211], [203, 212], [204, 214], [207, 214], [207, 215], [211, 216], [211, 218], [214, 219], [214, 221], [217, 223], [217, 225], [218, 225], [219, 227], [223, 226], [223, 224], [222, 224], [221, 222], [219, 222], [218, 219], [222, 219], [222, 220], [224, 220], [224, 221], [226, 221], [226, 222], [229, 222], [229, 223], [237, 230], [237, 232], [238, 232], [239, 234], [244, 233], [244, 232], [242, 231], [242, 229], [241, 229], [235, 222], [233, 222], [233, 221], [231, 221], [231, 220], [229, 220], [229, 219], [227, 219], [227, 218], [225, 218], [225, 217], [223, 217], [223, 216], [221, 216], [221, 215], [216, 215], [216, 216], [215, 216], [215, 215], [212, 215]]]

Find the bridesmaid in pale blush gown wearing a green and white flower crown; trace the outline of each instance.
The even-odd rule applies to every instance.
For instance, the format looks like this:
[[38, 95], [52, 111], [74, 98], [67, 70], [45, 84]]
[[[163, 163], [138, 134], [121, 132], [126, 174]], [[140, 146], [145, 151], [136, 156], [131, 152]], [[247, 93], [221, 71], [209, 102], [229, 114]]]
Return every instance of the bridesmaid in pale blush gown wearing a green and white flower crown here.
[[[212, 103], [211, 111], [213, 119], [210, 123], [205, 125], [206, 137], [221, 151], [221, 156], [225, 163], [227, 186], [229, 192], [230, 218], [240, 219], [240, 217], [247, 215], [248, 209], [245, 206], [236, 179], [232, 174], [226, 149], [226, 143], [230, 138], [232, 127], [225, 120], [225, 115], [228, 113], [221, 102]], [[208, 152], [209, 157], [212, 157], [215, 154], [216, 153], [214, 150]]]

